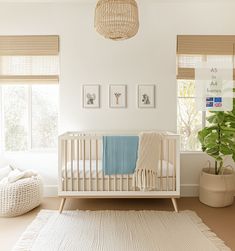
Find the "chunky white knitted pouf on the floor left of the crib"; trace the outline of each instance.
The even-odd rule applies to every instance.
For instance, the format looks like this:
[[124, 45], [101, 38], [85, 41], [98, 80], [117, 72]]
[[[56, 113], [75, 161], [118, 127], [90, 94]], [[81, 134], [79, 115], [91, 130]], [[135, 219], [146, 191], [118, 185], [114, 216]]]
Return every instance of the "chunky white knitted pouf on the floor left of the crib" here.
[[37, 207], [42, 200], [42, 180], [39, 176], [0, 184], [0, 217], [13, 217]]

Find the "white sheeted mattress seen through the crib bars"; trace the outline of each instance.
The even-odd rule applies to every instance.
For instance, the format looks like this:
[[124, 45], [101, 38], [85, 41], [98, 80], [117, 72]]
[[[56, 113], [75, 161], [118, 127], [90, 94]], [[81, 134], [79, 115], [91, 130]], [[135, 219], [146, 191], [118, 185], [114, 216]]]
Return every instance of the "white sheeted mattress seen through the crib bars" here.
[[[161, 161], [160, 161], [161, 162]], [[158, 165], [158, 170], [157, 170], [157, 177], [173, 177], [175, 176], [175, 169], [172, 163], [162, 160], [162, 165]], [[85, 172], [84, 168], [85, 166]], [[67, 175], [65, 175], [65, 170], [67, 170]], [[73, 172], [72, 172], [73, 170]], [[98, 172], [97, 172], [98, 171]], [[84, 161], [80, 160], [79, 163], [74, 160], [73, 162], [68, 162], [65, 168], [65, 165], [62, 168], [62, 177], [67, 179], [73, 179], [76, 178], [83, 178], [85, 174], [85, 178], [96, 178], [96, 173], [98, 174], [98, 178], [103, 178], [103, 177], [109, 177], [109, 176], [116, 176], [116, 178], [120, 178], [122, 175], [121, 174], [116, 174], [116, 175], [105, 175], [103, 170], [102, 170], [102, 160], [85, 160], [85, 165]], [[123, 174], [126, 175], [126, 174]], [[132, 174], [129, 174], [128, 176], [132, 176]]]

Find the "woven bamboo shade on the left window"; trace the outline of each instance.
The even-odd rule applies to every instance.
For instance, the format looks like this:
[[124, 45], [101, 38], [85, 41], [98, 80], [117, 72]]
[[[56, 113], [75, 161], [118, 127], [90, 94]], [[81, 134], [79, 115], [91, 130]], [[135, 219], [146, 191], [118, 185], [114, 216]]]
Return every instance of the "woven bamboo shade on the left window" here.
[[58, 83], [59, 36], [0, 36], [0, 84]]

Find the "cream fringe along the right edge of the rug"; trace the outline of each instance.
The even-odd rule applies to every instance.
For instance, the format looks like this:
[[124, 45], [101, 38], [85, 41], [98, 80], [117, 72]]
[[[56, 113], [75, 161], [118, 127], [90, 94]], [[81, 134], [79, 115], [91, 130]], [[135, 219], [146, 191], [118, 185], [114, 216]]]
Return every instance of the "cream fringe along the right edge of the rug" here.
[[182, 211], [182, 213], [187, 214], [195, 225], [198, 226], [199, 230], [206, 236], [206, 238], [214, 243], [220, 251], [232, 251], [232, 249], [225, 245], [223, 240], [221, 240], [207, 225], [203, 223], [202, 219], [195, 212], [186, 210]]

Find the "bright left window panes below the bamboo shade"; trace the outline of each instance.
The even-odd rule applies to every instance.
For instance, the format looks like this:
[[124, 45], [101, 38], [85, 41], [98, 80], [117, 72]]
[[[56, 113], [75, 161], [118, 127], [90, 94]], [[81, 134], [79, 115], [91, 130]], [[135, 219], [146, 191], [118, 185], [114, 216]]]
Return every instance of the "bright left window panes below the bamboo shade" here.
[[3, 85], [2, 149], [29, 151], [57, 146], [58, 86]]

